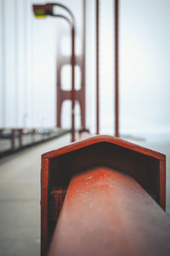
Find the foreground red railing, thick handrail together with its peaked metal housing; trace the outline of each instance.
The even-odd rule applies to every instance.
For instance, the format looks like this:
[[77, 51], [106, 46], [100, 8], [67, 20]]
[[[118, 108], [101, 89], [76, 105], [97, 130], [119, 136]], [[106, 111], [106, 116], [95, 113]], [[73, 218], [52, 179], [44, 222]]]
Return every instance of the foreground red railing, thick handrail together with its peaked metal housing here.
[[[67, 255], [67, 248], [74, 255], [98, 255], [105, 251], [106, 241], [108, 255], [126, 249], [130, 255], [138, 247], [139, 255], [147, 247], [168, 255], [170, 229], [164, 228], [170, 226], [170, 218], [161, 210], [166, 204], [165, 163], [163, 154], [109, 136], [89, 137], [43, 154], [42, 255], [53, 234], [50, 255]], [[99, 248], [102, 234], [106, 241]]]

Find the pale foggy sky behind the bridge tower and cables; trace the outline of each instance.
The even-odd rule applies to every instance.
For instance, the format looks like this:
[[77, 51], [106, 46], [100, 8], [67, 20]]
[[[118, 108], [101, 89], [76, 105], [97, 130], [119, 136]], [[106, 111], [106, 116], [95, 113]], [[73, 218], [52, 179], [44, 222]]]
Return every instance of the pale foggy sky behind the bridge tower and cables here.
[[[100, 0], [99, 71], [100, 133], [114, 127], [113, 1]], [[37, 20], [32, 0], [0, 0], [0, 126], [53, 127], [56, 108], [58, 32], [70, 53], [65, 20]], [[46, 3], [37, 0], [36, 3]], [[62, 0], [77, 22], [77, 54], [81, 52], [82, 1]], [[58, 9], [56, 9], [57, 11]], [[170, 1], [120, 1], [120, 126], [122, 134], [168, 136]], [[87, 0], [87, 125], [95, 132], [95, 1]], [[64, 67], [71, 88], [71, 67]], [[80, 86], [77, 68], [77, 88]], [[71, 102], [63, 105], [62, 124], [71, 125]], [[80, 125], [77, 104], [77, 127]]]

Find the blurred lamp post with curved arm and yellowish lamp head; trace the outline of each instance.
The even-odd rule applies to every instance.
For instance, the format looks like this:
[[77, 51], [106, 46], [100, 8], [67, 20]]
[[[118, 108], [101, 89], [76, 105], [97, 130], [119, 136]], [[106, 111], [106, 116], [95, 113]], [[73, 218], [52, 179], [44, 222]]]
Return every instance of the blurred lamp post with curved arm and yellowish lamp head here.
[[[54, 14], [54, 6], [65, 9], [71, 20], [65, 15]], [[37, 18], [54, 16], [66, 20], [71, 26], [71, 142], [75, 141], [75, 18], [71, 10], [61, 3], [33, 4], [33, 12]]]

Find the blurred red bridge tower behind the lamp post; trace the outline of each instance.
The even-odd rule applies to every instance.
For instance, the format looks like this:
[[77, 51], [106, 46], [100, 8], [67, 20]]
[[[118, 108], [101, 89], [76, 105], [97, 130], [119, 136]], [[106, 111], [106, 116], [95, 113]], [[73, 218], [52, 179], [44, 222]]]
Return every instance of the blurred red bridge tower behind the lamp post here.
[[[80, 68], [81, 72], [81, 88], [75, 90], [75, 102], [78, 102], [81, 109], [81, 125], [82, 128], [86, 128], [86, 108], [85, 108], [85, 45], [86, 45], [86, 0], [83, 0], [82, 4], [82, 55], [75, 55], [76, 61], [75, 66]], [[57, 51], [57, 127], [61, 127], [61, 111], [62, 103], [70, 100], [71, 101], [71, 90], [62, 89], [61, 71], [65, 65], [71, 65], [71, 56], [62, 55], [61, 47], [62, 33], [59, 34], [58, 51]], [[76, 32], [77, 37], [77, 32]]]

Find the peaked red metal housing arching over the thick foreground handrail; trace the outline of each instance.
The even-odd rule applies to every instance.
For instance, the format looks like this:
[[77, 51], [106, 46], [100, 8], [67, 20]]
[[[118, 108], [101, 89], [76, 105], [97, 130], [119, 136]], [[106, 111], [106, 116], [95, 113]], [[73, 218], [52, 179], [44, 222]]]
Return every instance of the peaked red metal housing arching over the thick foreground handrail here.
[[110, 166], [136, 180], [165, 209], [165, 160], [164, 154], [111, 136], [89, 137], [42, 154], [42, 255], [48, 250], [56, 224], [48, 207], [52, 191], [67, 190], [72, 177], [84, 170]]

